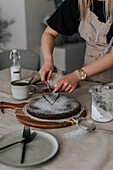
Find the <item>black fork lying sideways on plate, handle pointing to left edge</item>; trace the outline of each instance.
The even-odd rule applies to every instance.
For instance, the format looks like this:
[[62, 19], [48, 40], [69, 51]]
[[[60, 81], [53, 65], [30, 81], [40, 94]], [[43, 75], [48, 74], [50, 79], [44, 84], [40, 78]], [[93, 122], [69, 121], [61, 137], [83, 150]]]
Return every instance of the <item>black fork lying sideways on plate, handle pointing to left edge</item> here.
[[1, 150], [4, 150], [4, 149], [6, 149], [6, 148], [9, 148], [9, 147], [11, 147], [11, 146], [13, 146], [13, 145], [16, 145], [16, 144], [18, 144], [18, 143], [23, 143], [25, 140], [26, 140], [27, 143], [29, 143], [29, 142], [31, 142], [31, 141], [33, 140], [33, 138], [34, 138], [36, 135], [37, 135], [37, 133], [36, 133], [36, 132], [33, 132], [27, 140], [26, 140], [26, 139], [22, 139], [22, 140], [20, 140], [20, 141], [13, 142], [13, 143], [11, 143], [11, 144], [9, 144], [9, 145], [3, 146], [2, 148], [0, 148], [0, 151], [1, 151]]

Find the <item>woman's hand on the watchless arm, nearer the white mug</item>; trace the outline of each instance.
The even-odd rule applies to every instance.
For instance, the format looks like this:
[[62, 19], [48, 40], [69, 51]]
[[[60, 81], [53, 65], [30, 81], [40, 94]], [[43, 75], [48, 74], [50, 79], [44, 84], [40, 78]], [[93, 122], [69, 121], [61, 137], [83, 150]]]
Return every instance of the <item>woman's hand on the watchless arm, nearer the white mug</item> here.
[[41, 81], [47, 82], [53, 73], [53, 61], [47, 60], [42, 65], [39, 74], [41, 77]]

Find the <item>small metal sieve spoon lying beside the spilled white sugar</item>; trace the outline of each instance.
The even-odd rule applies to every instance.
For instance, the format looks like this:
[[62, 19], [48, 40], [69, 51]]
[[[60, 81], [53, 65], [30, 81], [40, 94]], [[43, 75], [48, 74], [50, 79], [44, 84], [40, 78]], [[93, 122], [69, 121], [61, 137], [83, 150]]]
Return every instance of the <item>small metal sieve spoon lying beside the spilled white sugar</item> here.
[[77, 120], [75, 120], [74, 118], [72, 118], [72, 120], [77, 124], [77, 126], [86, 131], [86, 132], [93, 132], [93, 131], [96, 131], [96, 130], [102, 130], [104, 132], [109, 132], [109, 133], [112, 133], [113, 134], [113, 131], [112, 130], [109, 130], [109, 129], [103, 129], [103, 128], [98, 128], [96, 129], [96, 125], [94, 122], [92, 122], [91, 120], [85, 118], [85, 117], [80, 117], [78, 118]]

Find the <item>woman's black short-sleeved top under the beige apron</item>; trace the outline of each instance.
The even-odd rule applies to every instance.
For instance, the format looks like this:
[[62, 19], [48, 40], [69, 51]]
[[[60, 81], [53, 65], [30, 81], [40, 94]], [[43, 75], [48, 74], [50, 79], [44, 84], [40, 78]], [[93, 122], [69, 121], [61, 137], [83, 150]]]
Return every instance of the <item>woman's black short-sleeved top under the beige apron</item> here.
[[[105, 2], [94, 1], [94, 14], [98, 17], [99, 21], [106, 22], [104, 15]], [[90, 7], [92, 10], [92, 7]], [[65, 0], [47, 20], [47, 24], [57, 31], [59, 34], [72, 35], [78, 32], [80, 24], [80, 10], [78, 8], [78, 0]], [[113, 24], [107, 34], [107, 43], [113, 37]]]

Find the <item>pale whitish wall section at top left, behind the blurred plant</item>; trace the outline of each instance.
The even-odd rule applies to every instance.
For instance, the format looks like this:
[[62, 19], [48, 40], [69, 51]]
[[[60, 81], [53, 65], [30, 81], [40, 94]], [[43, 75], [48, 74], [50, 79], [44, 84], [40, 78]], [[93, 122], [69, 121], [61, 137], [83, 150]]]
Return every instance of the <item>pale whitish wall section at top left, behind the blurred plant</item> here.
[[15, 23], [7, 28], [12, 34], [10, 42], [6, 43], [5, 49], [27, 48], [25, 4], [24, 0], [0, 0], [0, 16], [2, 19], [13, 18]]

